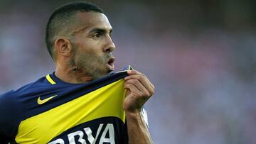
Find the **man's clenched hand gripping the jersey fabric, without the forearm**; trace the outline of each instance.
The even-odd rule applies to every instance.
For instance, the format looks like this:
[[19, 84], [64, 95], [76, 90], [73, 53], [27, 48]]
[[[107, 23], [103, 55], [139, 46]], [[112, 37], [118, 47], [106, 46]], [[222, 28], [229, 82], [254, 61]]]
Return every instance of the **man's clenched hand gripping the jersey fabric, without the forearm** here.
[[137, 113], [154, 94], [154, 85], [144, 74], [136, 70], [129, 70], [127, 73], [129, 76], [124, 78], [126, 97], [123, 102], [123, 109], [129, 113]]

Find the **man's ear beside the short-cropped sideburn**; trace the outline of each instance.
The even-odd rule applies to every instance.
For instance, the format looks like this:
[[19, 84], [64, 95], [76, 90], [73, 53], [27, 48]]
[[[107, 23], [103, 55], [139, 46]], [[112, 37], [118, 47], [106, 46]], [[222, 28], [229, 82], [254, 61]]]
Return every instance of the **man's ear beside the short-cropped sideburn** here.
[[71, 55], [72, 46], [70, 44], [70, 40], [65, 38], [59, 38], [55, 40], [54, 45], [55, 45], [57, 54], [63, 55], [64, 57], [68, 57]]

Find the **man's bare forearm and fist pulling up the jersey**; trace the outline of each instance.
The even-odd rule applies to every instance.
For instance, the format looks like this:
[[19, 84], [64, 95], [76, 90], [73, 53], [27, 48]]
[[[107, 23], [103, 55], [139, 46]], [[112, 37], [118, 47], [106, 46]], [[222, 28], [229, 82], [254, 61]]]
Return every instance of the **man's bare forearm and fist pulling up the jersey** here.
[[128, 71], [124, 89], [127, 90], [123, 108], [127, 116], [129, 143], [153, 143], [146, 122], [142, 116], [142, 107], [154, 94], [154, 85], [136, 70]]

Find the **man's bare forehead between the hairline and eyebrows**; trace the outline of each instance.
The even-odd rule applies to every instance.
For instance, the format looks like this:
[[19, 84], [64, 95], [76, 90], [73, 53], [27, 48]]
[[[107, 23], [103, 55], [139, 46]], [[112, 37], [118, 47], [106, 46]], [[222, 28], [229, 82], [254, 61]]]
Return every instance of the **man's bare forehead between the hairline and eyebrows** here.
[[82, 29], [84, 31], [90, 30], [92, 28], [105, 29], [110, 31], [112, 26], [107, 16], [103, 13], [97, 12], [79, 12], [77, 13], [78, 18], [78, 30]]

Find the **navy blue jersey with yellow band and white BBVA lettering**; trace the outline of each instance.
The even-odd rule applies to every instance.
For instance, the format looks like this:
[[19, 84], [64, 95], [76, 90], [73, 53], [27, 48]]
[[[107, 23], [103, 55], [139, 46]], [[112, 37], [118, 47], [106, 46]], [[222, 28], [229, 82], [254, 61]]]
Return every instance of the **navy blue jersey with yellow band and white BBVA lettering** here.
[[127, 143], [122, 109], [127, 75], [124, 70], [68, 84], [53, 72], [2, 94], [0, 143]]

